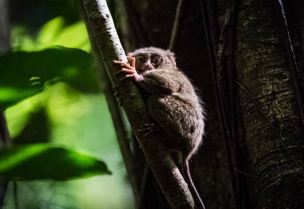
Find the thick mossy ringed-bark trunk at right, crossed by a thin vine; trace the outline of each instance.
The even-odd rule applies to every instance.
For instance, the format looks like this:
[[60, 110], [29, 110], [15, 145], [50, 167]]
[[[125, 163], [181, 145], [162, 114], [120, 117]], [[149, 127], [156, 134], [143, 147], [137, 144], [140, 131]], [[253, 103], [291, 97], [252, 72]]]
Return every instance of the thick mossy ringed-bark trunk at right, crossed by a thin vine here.
[[296, 206], [299, 193], [295, 191], [303, 186], [303, 176], [282, 142], [303, 166], [303, 135], [279, 26], [268, 2], [254, 0], [242, 6], [236, 32], [236, 79], [266, 115], [238, 88], [253, 174], [260, 177], [255, 179], [260, 207]]

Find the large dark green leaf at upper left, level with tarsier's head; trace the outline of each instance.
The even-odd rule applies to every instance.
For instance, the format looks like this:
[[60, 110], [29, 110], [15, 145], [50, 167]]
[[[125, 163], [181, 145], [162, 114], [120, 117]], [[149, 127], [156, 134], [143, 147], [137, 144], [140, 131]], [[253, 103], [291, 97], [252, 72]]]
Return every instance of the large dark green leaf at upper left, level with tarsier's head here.
[[7, 53], [0, 57], [0, 108], [33, 96], [47, 83], [58, 81], [96, 91], [92, 56], [81, 49], [59, 46]]

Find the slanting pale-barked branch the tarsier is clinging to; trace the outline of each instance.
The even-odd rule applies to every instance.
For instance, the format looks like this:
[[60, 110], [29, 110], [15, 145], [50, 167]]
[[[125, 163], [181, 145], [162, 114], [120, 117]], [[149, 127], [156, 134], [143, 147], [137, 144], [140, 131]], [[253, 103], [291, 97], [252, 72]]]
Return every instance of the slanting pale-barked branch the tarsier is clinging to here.
[[119, 81], [115, 72], [120, 70], [113, 60], [127, 62], [125, 53], [118, 39], [117, 32], [105, 0], [83, 0], [84, 7], [91, 24], [103, 62], [113, 84], [118, 92], [118, 98], [128, 117], [130, 125], [142, 148], [146, 159], [173, 209], [193, 209], [194, 201], [186, 182], [169, 155], [169, 151], [160, 140], [157, 133], [144, 136], [137, 130], [143, 129], [144, 124], [152, 123], [147, 113], [147, 107], [138, 89], [131, 81]]

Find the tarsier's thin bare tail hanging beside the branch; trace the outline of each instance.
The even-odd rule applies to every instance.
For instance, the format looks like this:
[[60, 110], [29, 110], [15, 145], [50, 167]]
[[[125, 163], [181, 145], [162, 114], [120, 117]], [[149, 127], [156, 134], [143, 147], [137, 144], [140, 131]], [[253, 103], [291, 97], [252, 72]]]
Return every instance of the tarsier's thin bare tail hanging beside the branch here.
[[188, 184], [189, 190], [190, 190], [192, 196], [194, 197], [199, 209], [205, 209], [203, 201], [202, 201], [199, 193], [197, 192], [197, 190], [193, 184], [192, 178], [190, 176], [188, 161], [184, 161], [182, 164], [182, 167], [183, 167], [184, 178]]

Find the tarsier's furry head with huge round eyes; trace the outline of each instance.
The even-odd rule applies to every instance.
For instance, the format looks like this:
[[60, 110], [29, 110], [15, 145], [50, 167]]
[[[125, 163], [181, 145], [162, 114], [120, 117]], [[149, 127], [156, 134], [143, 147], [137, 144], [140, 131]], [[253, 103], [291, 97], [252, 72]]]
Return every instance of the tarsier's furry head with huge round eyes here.
[[139, 48], [128, 54], [135, 57], [135, 69], [138, 74], [154, 69], [176, 69], [174, 53], [161, 48]]

